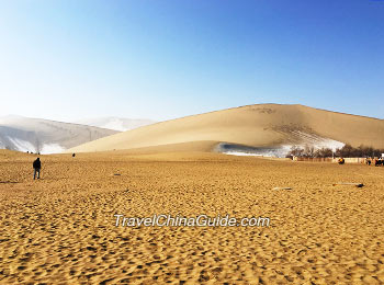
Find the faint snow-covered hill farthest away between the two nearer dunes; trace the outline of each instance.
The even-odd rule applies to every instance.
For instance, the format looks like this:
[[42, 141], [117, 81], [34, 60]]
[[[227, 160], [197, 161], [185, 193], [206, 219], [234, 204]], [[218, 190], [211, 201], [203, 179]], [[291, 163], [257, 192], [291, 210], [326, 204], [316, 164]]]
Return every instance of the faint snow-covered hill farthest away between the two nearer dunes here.
[[137, 127], [150, 125], [156, 122], [151, 119], [146, 119], [146, 118], [95, 117], [95, 118], [79, 119], [79, 121], [76, 121], [75, 123], [125, 132], [128, 129], [134, 129]]

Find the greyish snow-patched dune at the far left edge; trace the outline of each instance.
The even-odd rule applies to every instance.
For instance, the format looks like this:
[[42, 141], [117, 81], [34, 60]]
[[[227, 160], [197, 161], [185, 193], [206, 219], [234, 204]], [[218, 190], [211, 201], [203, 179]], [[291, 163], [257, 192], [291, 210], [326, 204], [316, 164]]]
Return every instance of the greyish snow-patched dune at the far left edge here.
[[57, 153], [118, 132], [22, 116], [0, 117], [0, 149]]

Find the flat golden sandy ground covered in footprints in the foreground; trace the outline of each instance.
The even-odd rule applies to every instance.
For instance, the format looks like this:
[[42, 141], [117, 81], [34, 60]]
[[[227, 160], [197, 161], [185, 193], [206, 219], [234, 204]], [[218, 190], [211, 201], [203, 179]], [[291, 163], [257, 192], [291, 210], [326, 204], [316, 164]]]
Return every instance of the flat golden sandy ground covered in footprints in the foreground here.
[[[33, 160], [0, 153], [0, 284], [384, 283], [384, 168], [84, 153], [43, 156], [33, 181]], [[227, 213], [271, 225], [129, 228], [113, 217]]]

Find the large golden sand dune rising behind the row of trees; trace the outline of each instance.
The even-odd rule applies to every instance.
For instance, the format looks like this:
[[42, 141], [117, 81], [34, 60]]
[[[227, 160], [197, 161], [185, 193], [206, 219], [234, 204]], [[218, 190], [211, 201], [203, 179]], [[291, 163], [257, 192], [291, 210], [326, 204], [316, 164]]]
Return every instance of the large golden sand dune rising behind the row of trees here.
[[292, 145], [335, 148], [342, 144], [384, 148], [384, 121], [303, 105], [260, 104], [157, 123], [70, 151], [133, 149], [204, 140], [257, 148]]

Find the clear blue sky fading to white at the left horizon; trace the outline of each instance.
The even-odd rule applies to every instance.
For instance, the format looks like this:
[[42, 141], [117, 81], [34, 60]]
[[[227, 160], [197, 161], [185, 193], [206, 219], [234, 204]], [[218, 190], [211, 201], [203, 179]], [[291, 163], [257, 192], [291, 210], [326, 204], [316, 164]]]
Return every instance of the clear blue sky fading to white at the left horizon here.
[[384, 117], [382, 0], [0, 0], [0, 115], [255, 103]]

